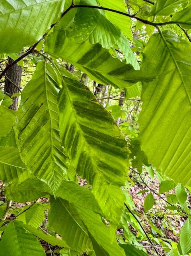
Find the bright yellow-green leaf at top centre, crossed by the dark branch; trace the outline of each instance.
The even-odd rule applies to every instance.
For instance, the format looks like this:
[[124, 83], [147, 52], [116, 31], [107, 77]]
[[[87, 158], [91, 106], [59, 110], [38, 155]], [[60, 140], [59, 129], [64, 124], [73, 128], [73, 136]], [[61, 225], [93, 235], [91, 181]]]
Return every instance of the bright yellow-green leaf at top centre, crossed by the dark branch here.
[[[109, 9], [125, 13], [127, 12], [127, 6], [124, 0], [99, 0], [99, 3], [101, 6]], [[127, 36], [129, 39], [132, 39], [131, 19], [129, 17], [109, 11], [105, 11], [105, 16], [108, 20], [115, 24], [115, 26], [118, 26], [125, 36]]]

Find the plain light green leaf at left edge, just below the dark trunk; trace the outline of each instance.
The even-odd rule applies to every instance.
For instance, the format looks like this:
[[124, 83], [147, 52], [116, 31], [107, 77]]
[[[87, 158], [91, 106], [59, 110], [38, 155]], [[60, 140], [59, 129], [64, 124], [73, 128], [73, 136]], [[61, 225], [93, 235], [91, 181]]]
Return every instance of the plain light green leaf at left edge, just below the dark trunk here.
[[2, 124], [0, 129], [0, 137], [3, 137], [10, 132], [15, 124], [15, 120], [16, 115], [14, 111], [0, 105], [0, 123]]

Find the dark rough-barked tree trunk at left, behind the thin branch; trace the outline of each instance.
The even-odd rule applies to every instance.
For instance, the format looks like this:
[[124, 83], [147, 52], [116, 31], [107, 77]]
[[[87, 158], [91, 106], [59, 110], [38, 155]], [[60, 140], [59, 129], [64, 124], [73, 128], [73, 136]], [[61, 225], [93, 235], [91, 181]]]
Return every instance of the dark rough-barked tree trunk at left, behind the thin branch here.
[[[14, 60], [8, 58], [8, 63], [12, 63]], [[22, 67], [15, 64], [6, 73], [6, 76], [10, 79], [5, 78], [4, 93], [11, 97], [14, 93], [19, 93], [19, 89], [14, 85], [21, 85]], [[14, 83], [12, 83], [12, 82]], [[13, 97], [13, 104], [9, 107], [10, 109], [17, 110], [18, 108], [18, 97]]]

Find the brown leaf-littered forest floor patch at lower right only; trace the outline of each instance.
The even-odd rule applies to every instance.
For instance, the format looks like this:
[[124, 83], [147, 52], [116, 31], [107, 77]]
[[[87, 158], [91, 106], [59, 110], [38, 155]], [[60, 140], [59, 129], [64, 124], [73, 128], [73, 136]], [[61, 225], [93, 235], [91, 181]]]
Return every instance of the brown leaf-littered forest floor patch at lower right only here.
[[[142, 179], [140, 178], [140, 176]], [[146, 232], [154, 237], [152, 241], [154, 242], [154, 245], [156, 246], [160, 254], [162, 256], [166, 256], [167, 252], [164, 251], [165, 246], [164, 248], [162, 248], [161, 242], [157, 243], [157, 239], [164, 240], [170, 245], [172, 245], [172, 242], [178, 243], [181, 226], [185, 223], [186, 220], [185, 216], [173, 214], [172, 211], [166, 209], [166, 206], [168, 206], [168, 203], [165, 202], [165, 200], [167, 200], [166, 196], [168, 194], [175, 193], [175, 190], [171, 190], [170, 192], [166, 193], [166, 195], [161, 194], [161, 197], [159, 197], [157, 194], [159, 191], [160, 183], [156, 176], [154, 177], [154, 179], [151, 179], [146, 172], [144, 173], [144, 175], [138, 175], [138, 173], [130, 171], [129, 177], [132, 181], [131, 187], [129, 189], [129, 194], [133, 199], [135, 210], [138, 212], [141, 222], [144, 223], [144, 229], [146, 230]], [[146, 184], [142, 182], [143, 180]], [[155, 199], [154, 206], [146, 213], [144, 212], [144, 198], [146, 197], [146, 194], [148, 194], [148, 192], [143, 194], [137, 194], [142, 190], [148, 190], [148, 192], [152, 192]], [[188, 198], [188, 200], [189, 205], [191, 205], [191, 199]], [[149, 224], [149, 221], [152, 222], [152, 224], [156, 226], [156, 228], [158, 228], [158, 230], [160, 230], [162, 233], [158, 234], [158, 232], [153, 230]], [[131, 225], [129, 226], [133, 234], [137, 236], [138, 232], [134, 230]], [[137, 238], [137, 240], [139, 239]], [[150, 256], [156, 255], [153, 253], [153, 248], [148, 240], [139, 240], [139, 243], [142, 244], [144, 248], [146, 248]]]

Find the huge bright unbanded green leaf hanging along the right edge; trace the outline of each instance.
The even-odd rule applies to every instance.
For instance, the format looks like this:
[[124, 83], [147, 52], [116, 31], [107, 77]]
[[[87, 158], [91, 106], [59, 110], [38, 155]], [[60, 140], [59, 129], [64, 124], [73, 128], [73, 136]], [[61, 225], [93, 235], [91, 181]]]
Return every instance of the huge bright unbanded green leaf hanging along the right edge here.
[[191, 185], [190, 53], [190, 42], [170, 31], [151, 36], [142, 70], [167, 73], [143, 83], [139, 117], [141, 149], [148, 161], [166, 177], [188, 186]]

